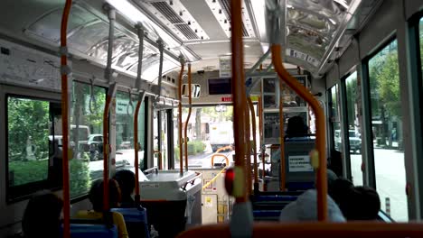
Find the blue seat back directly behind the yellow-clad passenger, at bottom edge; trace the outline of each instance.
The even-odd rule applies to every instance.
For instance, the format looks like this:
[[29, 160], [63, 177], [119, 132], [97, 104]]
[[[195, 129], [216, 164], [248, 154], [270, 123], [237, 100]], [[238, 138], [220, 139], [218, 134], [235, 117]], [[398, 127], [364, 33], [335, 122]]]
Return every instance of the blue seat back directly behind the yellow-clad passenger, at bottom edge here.
[[118, 238], [118, 228], [116, 225], [108, 228], [105, 224], [71, 224], [71, 238]]

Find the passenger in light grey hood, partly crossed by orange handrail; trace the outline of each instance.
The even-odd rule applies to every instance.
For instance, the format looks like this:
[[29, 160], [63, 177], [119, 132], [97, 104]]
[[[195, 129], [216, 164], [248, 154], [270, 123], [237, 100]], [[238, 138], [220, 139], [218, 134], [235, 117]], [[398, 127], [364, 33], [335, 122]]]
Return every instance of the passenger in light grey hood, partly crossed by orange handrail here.
[[[334, 200], [327, 196], [328, 219], [331, 222], [345, 222], [343, 213]], [[310, 189], [291, 202], [279, 216], [281, 222], [317, 221], [317, 191]]]

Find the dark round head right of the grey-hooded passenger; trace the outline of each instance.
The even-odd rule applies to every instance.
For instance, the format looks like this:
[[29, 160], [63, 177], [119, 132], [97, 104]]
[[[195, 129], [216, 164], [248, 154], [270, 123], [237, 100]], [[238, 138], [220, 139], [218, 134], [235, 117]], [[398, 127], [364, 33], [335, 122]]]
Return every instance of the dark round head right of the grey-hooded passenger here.
[[347, 220], [376, 220], [381, 210], [381, 200], [373, 188], [353, 187], [340, 207]]

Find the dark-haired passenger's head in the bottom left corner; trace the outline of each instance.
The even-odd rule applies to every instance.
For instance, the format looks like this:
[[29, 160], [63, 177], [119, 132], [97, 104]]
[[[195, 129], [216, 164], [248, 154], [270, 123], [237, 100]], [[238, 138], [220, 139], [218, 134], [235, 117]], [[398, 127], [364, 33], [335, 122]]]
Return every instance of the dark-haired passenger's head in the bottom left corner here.
[[24, 237], [60, 237], [62, 207], [61, 198], [50, 192], [31, 198], [22, 220]]

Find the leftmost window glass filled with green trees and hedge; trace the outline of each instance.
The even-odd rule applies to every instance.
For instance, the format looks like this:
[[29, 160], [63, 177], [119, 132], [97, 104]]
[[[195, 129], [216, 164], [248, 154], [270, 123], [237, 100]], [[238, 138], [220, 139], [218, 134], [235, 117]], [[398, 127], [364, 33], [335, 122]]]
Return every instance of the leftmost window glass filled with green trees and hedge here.
[[8, 185], [48, 178], [50, 102], [7, 97]]

